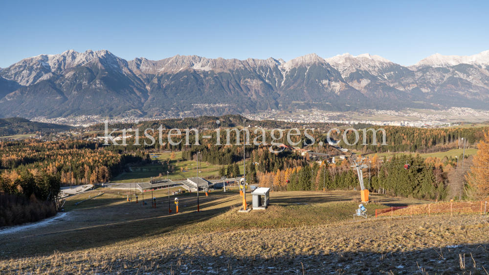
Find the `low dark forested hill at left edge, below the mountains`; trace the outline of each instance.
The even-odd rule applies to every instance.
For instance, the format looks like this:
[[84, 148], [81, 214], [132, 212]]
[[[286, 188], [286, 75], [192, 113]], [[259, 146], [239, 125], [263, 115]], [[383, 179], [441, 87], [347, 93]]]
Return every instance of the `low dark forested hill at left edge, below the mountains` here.
[[43, 134], [68, 130], [70, 126], [33, 122], [20, 117], [0, 118], [0, 136], [17, 134], [32, 134], [42, 132]]

